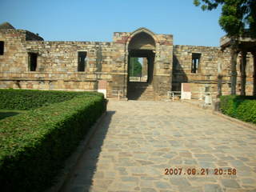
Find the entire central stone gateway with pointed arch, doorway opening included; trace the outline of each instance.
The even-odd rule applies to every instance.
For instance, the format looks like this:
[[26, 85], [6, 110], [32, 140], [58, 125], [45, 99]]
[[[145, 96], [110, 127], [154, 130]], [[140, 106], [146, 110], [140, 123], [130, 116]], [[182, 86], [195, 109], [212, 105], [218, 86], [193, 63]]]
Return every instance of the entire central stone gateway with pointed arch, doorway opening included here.
[[[117, 58], [123, 58], [125, 62], [123, 77], [119, 76], [117, 84], [118, 75], [113, 76], [113, 82], [128, 99], [154, 100], [166, 96], [171, 89], [172, 35], [154, 34], [139, 28], [132, 33], [114, 33], [114, 45], [119, 50]], [[120, 51], [121, 47], [123, 51]]]

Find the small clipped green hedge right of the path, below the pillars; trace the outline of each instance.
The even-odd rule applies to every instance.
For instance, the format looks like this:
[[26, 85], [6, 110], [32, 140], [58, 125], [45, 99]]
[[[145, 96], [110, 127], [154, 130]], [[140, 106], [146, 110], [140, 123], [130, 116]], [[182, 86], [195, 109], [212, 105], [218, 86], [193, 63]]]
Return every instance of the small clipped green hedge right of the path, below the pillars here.
[[256, 97], [225, 95], [221, 97], [221, 110], [232, 118], [256, 123]]

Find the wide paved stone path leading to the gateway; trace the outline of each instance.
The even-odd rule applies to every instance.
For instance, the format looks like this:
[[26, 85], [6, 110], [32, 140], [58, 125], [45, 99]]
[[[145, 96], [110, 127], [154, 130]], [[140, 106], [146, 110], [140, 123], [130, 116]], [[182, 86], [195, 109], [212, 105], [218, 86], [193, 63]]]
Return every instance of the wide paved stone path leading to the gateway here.
[[256, 191], [256, 130], [180, 102], [110, 101], [62, 191]]

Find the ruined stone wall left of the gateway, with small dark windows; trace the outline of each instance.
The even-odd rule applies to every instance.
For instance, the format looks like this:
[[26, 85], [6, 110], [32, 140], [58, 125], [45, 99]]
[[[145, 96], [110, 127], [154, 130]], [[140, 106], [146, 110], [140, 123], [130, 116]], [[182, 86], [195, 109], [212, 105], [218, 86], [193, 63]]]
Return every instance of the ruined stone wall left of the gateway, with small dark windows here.
[[[30, 41], [27, 41], [30, 40]], [[26, 30], [1, 30], [0, 87], [53, 90], [97, 90], [98, 79], [111, 82], [110, 42], [44, 42]], [[78, 51], [86, 51], [86, 70], [78, 72]], [[38, 54], [30, 71], [28, 53]]]

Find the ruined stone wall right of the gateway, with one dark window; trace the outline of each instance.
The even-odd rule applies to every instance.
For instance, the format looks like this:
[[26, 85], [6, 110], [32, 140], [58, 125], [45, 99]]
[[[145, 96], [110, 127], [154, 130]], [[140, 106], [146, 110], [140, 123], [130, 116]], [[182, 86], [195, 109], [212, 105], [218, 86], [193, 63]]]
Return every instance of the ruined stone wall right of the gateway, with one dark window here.
[[[198, 72], [191, 72], [192, 54], [201, 54]], [[253, 62], [251, 55], [246, 66], [247, 83], [246, 93], [252, 94]], [[238, 84], [240, 90], [240, 58], [238, 57]], [[219, 47], [208, 46], [174, 46], [173, 90], [180, 90], [182, 82], [191, 82], [198, 85], [198, 92], [210, 87], [214, 96], [218, 90], [218, 74], [222, 75], [222, 94], [230, 94], [230, 50], [220, 50]], [[195, 90], [195, 88], [194, 88]]]

